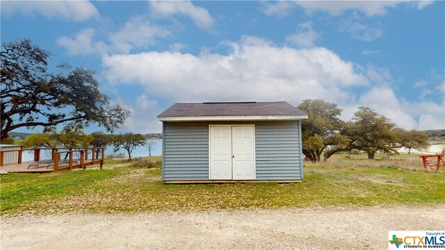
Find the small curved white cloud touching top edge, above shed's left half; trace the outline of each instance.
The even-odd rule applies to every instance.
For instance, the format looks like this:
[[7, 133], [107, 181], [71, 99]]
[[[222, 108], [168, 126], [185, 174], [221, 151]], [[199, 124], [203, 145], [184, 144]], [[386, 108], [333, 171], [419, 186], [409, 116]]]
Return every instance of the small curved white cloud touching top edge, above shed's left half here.
[[154, 17], [170, 17], [181, 14], [193, 19], [193, 22], [200, 28], [209, 29], [213, 26], [214, 20], [209, 15], [209, 11], [194, 6], [191, 1], [150, 1], [149, 4]]

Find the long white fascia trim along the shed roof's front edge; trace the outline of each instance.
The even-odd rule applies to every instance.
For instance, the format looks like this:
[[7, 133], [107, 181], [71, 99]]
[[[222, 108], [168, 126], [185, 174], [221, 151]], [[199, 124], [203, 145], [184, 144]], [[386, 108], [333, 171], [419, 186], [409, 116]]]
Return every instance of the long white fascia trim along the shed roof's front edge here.
[[204, 117], [158, 117], [161, 122], [204, 122], [204, 121], [296, 121], [307, 119], [307, 115], [246, 115]]

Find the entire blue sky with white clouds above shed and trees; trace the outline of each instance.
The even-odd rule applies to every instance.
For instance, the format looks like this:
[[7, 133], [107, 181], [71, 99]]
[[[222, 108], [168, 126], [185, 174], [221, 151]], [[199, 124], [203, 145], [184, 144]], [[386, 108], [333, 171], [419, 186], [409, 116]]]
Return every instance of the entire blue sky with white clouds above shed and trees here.
[[132, 110], [118, 132], [160, 132], [175, 102], [304, 99], [445, 129], [444, 1], [1, 1], [1, 40], [23, 38], [94, 69]]

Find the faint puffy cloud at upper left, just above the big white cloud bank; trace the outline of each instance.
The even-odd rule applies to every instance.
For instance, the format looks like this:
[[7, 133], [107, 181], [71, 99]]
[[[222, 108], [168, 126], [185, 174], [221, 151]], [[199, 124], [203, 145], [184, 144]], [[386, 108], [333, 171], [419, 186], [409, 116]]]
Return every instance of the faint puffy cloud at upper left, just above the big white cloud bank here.
[[167, 28], [150, 24], [144, 17], [134, 17], [120, 31], [109, 35], [113, 49], [129, 53], [134, 47], [145, 48], [156, 44], [155, 38], [170, 35]]

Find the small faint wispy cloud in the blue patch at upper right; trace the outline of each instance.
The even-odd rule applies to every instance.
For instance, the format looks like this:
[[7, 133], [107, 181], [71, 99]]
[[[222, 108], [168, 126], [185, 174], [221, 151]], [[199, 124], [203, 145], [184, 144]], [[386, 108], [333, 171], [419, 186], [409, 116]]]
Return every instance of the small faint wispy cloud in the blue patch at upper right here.
[[369, 26], [368, 24], [360, 24], [357, 20], [343, 19], [339, 23], [340, 32], [348, 32], [351, 38], [364, 42], [371, 42], [383, 35], [382, 28], [377, 26]]

